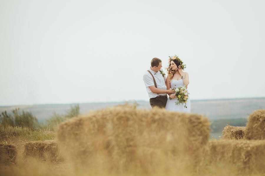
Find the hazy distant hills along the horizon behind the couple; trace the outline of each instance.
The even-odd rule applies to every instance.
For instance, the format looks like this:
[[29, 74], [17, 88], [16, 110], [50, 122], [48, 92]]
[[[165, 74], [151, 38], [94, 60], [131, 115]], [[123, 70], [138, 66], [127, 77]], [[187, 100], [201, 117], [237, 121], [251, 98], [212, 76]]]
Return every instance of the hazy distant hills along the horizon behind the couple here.
[[[136, 101], [139, 108], [151, 109], [148, 101]], [[82, 103], [80, 114], [89, 111], [102, 109], [105, 107], [123, 104], [124, 102], [108, 103]], [[20, 108], [31, 111], [40, 122], [48, 119], [52, 112], [64, 114], [70, 109], [71, 104], [37, 104], [28, 106], [0, 106], [0, 112]], [[207, 116], [211, 120], [216, 119], [244, 119], [256, 109], [265, 109], [265, 98], [245, 98], [245, 99], [216, 99], [216, 100], [193, 100], [191, 101], [191, 112]]]

